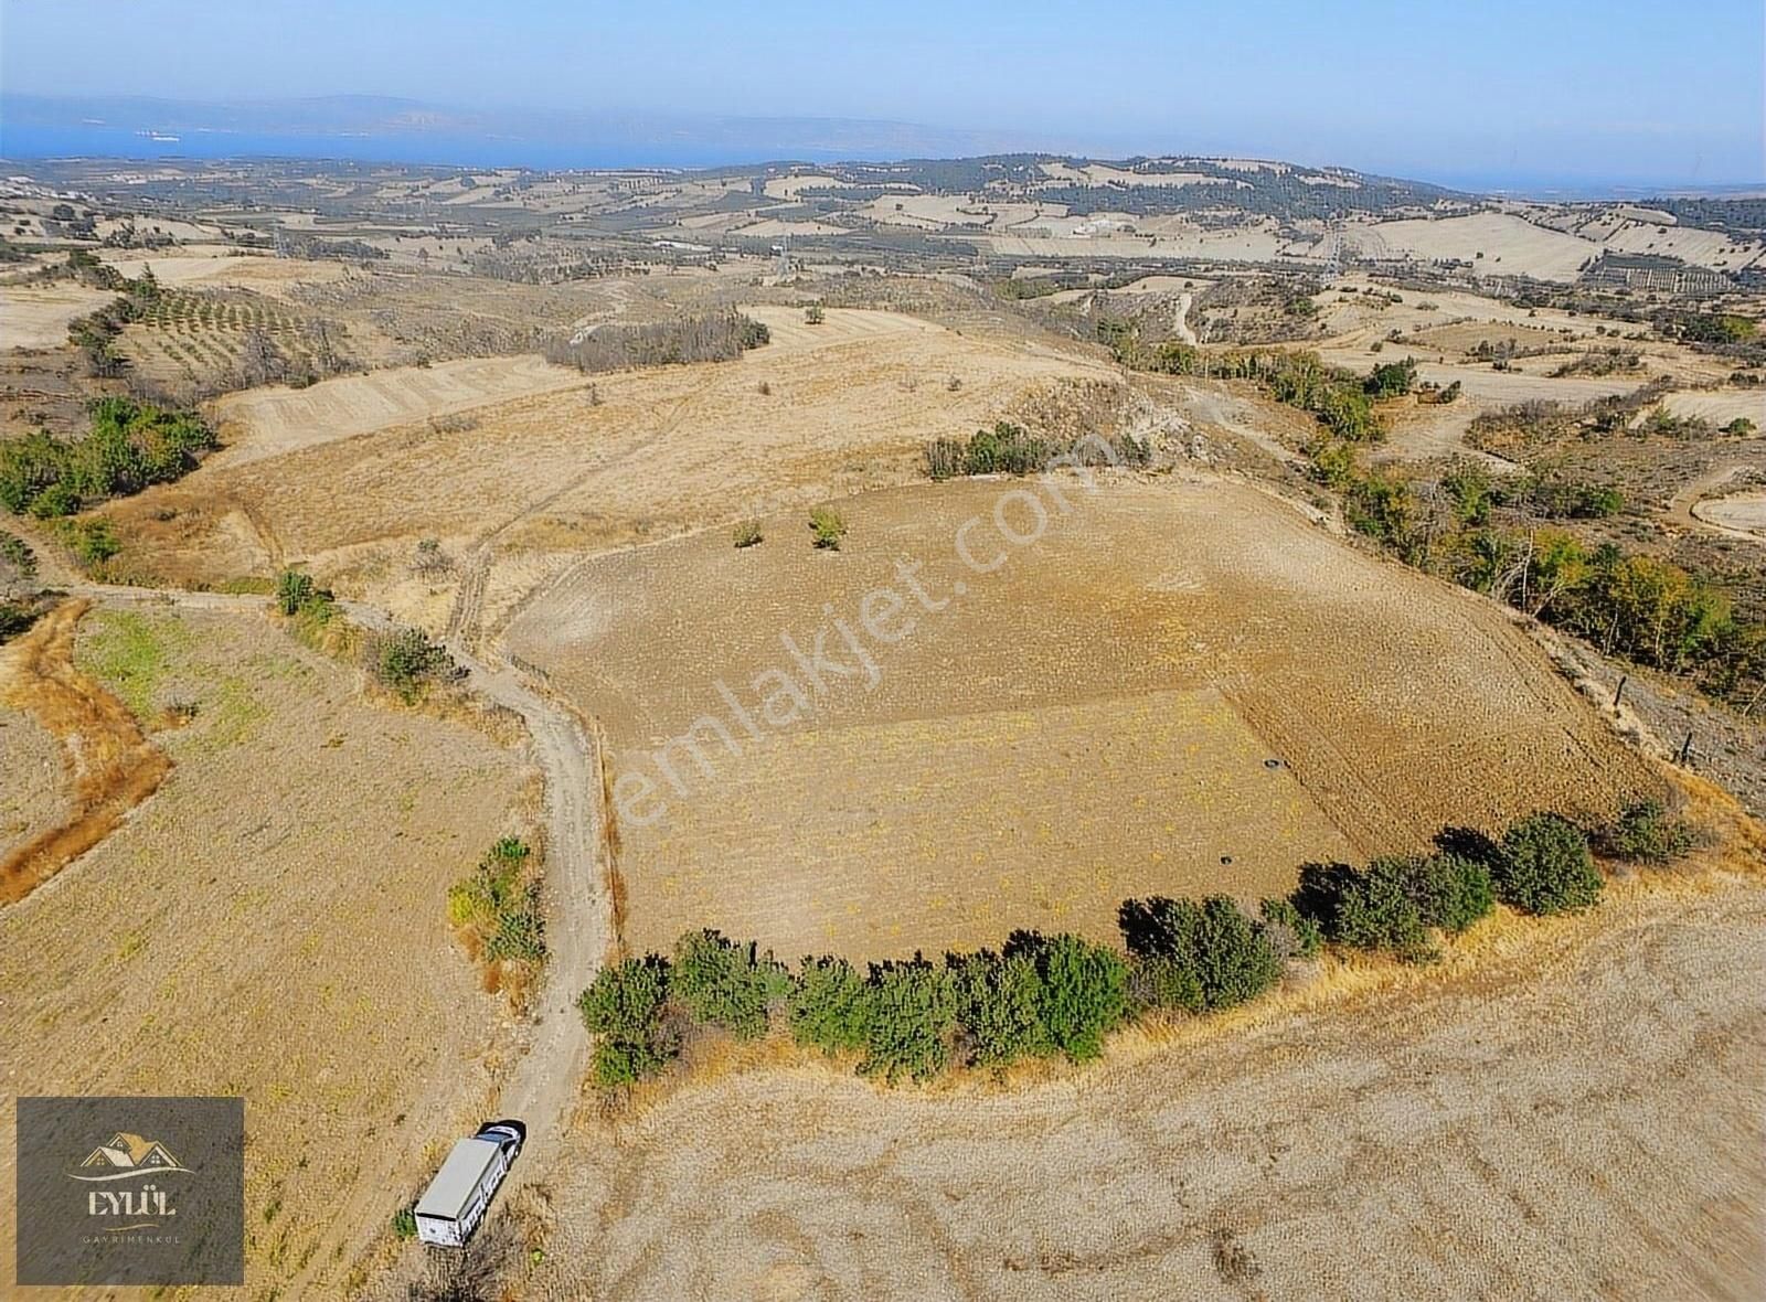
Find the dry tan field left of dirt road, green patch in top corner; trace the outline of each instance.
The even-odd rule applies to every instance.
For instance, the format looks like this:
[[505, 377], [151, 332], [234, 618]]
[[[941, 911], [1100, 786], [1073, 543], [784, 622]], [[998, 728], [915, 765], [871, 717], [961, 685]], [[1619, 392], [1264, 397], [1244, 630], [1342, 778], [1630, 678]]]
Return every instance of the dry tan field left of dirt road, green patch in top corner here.
[[[109, 709], [152, 720], [171, 767], [0, 909], [0, 1080], [244, 1096], [247, 1290], [337, 1297], [332, 1246], [385, 1217], [487, 1097], [502, 1004], [449, 939], [447, 889], [525, 826], [526, 767], [463, 725], [369, 706], [353, 672], [258, 616], [99, 607], [74, 660]], [[12, 1163], [9, 1143], [7, 1189]]]

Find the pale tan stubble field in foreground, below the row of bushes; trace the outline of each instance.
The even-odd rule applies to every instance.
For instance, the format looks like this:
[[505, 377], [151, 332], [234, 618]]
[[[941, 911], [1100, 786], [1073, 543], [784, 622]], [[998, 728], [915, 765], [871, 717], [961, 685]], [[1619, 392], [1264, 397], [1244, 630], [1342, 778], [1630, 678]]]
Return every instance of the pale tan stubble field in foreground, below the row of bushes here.
[[1014, 1092], [710, 1073], [590, 1122], [523, 1297], [1766, 1293], [1766, 889], [1621, 884]]

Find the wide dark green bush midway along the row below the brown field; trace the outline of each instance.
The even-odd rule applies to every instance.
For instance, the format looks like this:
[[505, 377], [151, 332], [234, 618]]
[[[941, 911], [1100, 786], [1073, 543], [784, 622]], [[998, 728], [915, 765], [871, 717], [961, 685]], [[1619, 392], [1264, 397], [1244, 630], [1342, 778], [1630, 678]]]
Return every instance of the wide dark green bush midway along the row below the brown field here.
[[[1282, 976], [1282, 960], [1268, 935], [1231, 896], [1211, 894], [1199, 903], [1166, 896], [1125, 900], [1118, 921], [1130, 954], [1160, 960], [1137, 984], [1166, 991], [1178, 1007], [1231, 1007], [1261, 995]], [[1199, 1004], [1181, 1002], [1187, 991]]]

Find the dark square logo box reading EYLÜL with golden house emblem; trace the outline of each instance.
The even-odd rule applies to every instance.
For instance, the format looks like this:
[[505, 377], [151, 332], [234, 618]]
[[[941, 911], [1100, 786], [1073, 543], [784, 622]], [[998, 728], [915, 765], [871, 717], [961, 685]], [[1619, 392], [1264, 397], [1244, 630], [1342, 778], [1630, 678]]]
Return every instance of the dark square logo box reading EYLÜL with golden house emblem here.
[[16, 1207], [21, 1286], [244, 1284], [245, 1101], [21, 1097]]

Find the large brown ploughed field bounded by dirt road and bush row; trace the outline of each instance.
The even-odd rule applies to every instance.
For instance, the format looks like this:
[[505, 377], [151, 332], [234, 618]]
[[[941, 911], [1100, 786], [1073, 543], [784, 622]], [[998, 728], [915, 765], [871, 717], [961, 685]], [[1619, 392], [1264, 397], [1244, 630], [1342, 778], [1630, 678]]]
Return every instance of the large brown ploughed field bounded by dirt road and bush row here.
[[[1021, 535], [1040, 494], [1038, 542], [1001, 542], [1001, 494]], [[602, 556], [510, 625], [609, 734], [634, 949], [696, 926], [793, 958], [1113, 937], [1125, 896], [1254, 902], [1309, 859], [1609, 815], [1657, 782], [1496, 607], [1261, 492], [1063, 494], [1065, 519], [1035, 482], [865, 494], [839, 552], [781, 515], [751, 549]], [[959, 531], [1001, 566], [970, 570]], [[894, 642], [860, 632], [885, 589]], [[818, 635], [841, 669], [784, 644], [812, 658]]]

